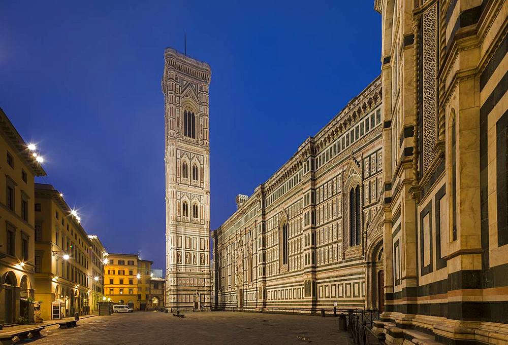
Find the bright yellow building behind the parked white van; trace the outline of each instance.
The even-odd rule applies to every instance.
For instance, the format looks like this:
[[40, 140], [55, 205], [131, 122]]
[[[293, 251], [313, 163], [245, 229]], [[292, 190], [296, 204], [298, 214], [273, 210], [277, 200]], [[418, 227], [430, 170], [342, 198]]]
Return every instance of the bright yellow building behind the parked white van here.
[[150, 305], [152, 263], [136, 254], [109, 254], [104, 266], [105, 297], [135, 310], [146, 310]]

